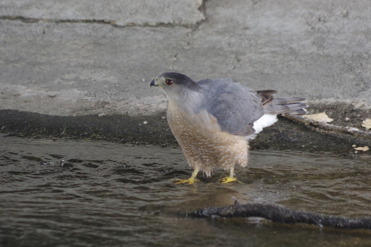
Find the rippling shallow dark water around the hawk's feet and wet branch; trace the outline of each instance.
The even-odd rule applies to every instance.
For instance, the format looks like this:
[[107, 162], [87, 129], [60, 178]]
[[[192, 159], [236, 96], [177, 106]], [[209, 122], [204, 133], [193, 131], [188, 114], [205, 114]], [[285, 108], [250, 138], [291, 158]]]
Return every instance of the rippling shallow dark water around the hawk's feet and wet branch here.
[[370, 246], [369, 230], [186, 218], [196, 208], [269, 202], [371, 216], [371, 156], [250, 151], [243, 183], [192, 170], [180, 148], [0, 135], [0, 246]]

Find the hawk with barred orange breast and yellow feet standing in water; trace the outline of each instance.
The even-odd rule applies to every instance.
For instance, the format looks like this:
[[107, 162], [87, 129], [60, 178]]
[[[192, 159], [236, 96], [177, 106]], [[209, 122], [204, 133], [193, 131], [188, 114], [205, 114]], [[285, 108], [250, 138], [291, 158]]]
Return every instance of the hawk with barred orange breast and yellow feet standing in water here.
[[151, 81], [168, 98], [167, 120], [192, 176], [211, 177], [214, 167], [229, 172], [224, 183], [237, 180], [234, 164], [247, 165], [248, 140], [277, 121], [276, 114], [305, 114], [305, 98], [276, 98], [274, 90], [254, 91], [231, 79], [193, 81], [180, 73], [164, 73]]

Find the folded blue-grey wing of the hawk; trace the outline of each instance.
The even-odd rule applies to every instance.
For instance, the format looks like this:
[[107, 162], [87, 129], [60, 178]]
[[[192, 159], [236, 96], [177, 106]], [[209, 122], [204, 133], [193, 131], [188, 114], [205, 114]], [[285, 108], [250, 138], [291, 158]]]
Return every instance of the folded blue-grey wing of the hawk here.
[[264, 110], [262, 97], [254, 90], [230, 79], [201, 80], [197, 84], [206, 92], [199, 110], [213, 115], [223, 131], [241, 136], [255, 133], [253, 123]]

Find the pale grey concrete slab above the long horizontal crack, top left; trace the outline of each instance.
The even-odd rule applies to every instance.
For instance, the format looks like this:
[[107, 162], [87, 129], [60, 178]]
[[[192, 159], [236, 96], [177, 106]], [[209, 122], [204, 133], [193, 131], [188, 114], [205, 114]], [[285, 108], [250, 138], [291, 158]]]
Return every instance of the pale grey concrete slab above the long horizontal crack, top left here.
[[117, 26], [196, 25], [203, 20], [202, 0], [3, 0], [0, 16], [35, 20], [101, 20]]

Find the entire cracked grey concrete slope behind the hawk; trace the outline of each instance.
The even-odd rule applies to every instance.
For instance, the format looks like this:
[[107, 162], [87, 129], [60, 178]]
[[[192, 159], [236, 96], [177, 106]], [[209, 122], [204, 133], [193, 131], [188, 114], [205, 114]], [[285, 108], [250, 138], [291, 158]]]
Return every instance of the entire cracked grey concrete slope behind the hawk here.
[[370, 109], [370, 23], [367, 0], [3, 0], [0, 108], [162, 114], [149, 82], [177, 71]]

